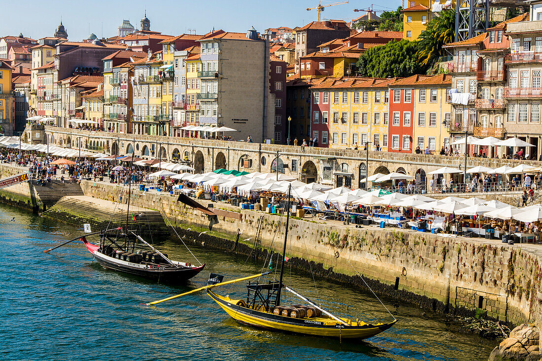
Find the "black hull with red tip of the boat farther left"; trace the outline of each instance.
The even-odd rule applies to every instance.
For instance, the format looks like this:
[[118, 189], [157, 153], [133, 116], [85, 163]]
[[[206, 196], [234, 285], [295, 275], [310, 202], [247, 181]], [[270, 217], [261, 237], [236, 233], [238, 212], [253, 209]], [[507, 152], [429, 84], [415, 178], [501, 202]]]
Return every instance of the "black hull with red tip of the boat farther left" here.
[[83, 243], [85, 243], [88, 251], [94, 255], [95, 260], [100, 264], [100, 266], [106, 269], [115, 270], [117, 272], [141, 276], [157, 282], [183, 283], [197, 275], [205, 267], [205, 264], [202, 266], [182, 266], [179, 268], [141, 265], [139, 263], [123, 261], [106, 256], [105, 254], [98, 252], [99, 246], [96, 244], [90, 243], [86, 240], [83, 240]]

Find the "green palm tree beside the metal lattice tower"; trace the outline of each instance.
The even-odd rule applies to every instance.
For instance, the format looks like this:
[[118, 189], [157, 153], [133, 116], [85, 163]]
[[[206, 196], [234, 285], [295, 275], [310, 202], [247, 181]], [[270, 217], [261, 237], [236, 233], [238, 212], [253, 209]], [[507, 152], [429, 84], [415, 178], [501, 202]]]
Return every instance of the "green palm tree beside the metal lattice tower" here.
[[442, 46], [455, 38], [455, 11], [443, 10], [427, 24], [427, 28], [418, 37], [418, 61], [424, 67], [433, 66], [438, 57], [444, 55]]

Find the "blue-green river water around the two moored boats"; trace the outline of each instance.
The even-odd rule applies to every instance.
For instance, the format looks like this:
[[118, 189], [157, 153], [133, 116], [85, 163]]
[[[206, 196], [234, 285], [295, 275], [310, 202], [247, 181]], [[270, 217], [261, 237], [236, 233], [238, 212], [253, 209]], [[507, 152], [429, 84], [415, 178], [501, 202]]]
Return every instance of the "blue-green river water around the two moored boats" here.
[[[201, 287], [209, 272], [224, 280], [259, 273], [244, 256], [192, 249], [205, 270], [186, 286], [158, 285], [102, 269], [81, 242], [42, 250], [81, 229], [0, 205], [0, 360], [487, 360], [496, 341], [464, 334], [442, 315], [384, 301], [399, 318], [365, 341], [274, 333], [231, 320], [205, 293], [144, 304]], [[155, 241], [156, 242], [156, 241]], [[173, 259], [192, 261], [176, 240], [160, 242]], [[339, 314], [389, 321], [369, 294], [286, 268], [285, 282]], [[218, 288], [243, 297], [243, 287]], [[220, 292], [219, 292], [220, 293]], [[295, 302], [297, 303], [297, 302]], [[349, 306], [346, 306], [349, 305]]]

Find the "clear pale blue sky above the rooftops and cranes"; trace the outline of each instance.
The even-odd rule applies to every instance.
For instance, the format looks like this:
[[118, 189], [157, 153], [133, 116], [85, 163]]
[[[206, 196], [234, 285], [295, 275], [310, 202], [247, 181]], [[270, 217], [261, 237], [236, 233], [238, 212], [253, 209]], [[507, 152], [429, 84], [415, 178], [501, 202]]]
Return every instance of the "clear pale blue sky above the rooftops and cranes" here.
[[[335, 1], [322, 0], [322, 5]], [[328, 7], [322, 16], [350, 21], [362, 13], [352, 9], [366, 9], [375, 0], [350, 0], [348, 4]], [[400, 0], [376, 2], [375, 10], [397, 9]], [[196, 29], [205, 34], [213, 27], [226, 31], [245, 32], [251, 26], [257, 31], [279, 27], [294, 28], [316, 20], [315, 7], [318, 0], [160, 0], [160, 1], [115, 1], [115, 0], [49, 0], [49, 1], [4, 1], [0, 36], [31, 36], [35, 39], [52, 36], [62, 17], [69, 39], [80, 41], [91, 33], [101, 37], [117, 35], [122, 19], [129, 19], [139, 28], [145, 9], [151, 20], [151, 30], [164, 34], [179, 35]], [[379, 13], [377, 13], [378, 15]], [[103, 29], [103, 33], [102, 33]]]

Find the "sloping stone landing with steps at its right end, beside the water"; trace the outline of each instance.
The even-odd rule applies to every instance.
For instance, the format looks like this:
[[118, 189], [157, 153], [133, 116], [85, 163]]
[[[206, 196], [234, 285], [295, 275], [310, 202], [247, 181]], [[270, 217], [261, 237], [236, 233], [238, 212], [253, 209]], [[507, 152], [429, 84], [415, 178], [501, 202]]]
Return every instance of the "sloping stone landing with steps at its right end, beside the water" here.
[[[104, 207], [105, 202], [109, 203], [106, 207]], [[46, 214], [52, 212], [65, 214], [70, 223], [80, 226], [82, 223], [91, 223], [94, 230], [126, 228], [126, 210], [118, 209], [111, 202], [103, 199], [79, 195], [64, 196], [49, 207]], [[136, 222], [134, 222], [132, 215], [135, 216]], [[160, 212], [141, 208], [130, 209], [128, 229], [141, 236], [152, 235], [154, 237], [170, 234]]]

